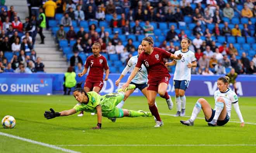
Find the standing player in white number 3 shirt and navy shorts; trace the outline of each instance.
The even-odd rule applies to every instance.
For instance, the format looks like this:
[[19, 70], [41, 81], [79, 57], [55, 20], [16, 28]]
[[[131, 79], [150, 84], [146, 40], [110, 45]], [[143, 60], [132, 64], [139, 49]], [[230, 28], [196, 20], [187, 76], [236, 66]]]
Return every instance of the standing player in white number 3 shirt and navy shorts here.
[[191, 68], [197, 66], [195, 54], [189, 50], [190, 40], [183, 38], [180, 42], [181, 50], [175, 51], [175, 55], [182, 54], [182, 59], [165, 63], [166, 66], [176, 65], [173, 84], [175, 88], [177, 113], [175, 116], [185, 116], [186, 97], [185, 91], [191, 80]]

